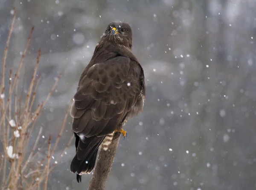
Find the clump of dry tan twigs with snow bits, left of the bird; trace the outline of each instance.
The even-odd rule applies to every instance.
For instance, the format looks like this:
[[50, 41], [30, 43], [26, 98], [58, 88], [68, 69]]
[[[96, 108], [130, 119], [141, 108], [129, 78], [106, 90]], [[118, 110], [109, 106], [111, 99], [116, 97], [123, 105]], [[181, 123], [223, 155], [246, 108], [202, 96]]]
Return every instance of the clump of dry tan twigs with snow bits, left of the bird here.
[[[44, 145], [38, 145], [42, 129], [39, 130], [35, 142], [32, 142], [30, 137], [32, 136], [34, 128], [38, 126], [37, 120], [41, 116], [42, 108], [49, 99], [49, 96], [51, 96], [52, 92], [55, 90], [61, 74], [58, 76], [46, 99], [34, 109], [36, 92], [38, 89], [39, 79], [41, 77], [40, 74], [37, 75], [41, 56], [40, 50], [38, 51], [34, 72], [26, 93], [23, 91], [25, 77], [23, 77], [23, 82], [20, 84], [20, 70], [23, 66], [23, 60], [26, 56], [26, 52], [28, 51], [34, 28], [32, 28], [28, 37], [26, 48], [21, 56], [17, 71], [14, 72], [10, 69], [9, 73], [6, 73], [6, 59], [10, 37], [14, 28], [15, 17], [16, 12], [14, 11], [12, 25], [10, 26], [9, 35], [6, 40], [6, 48], [2, 62], [2, 76], [0, 77], [0, 144], [3, 145], [3, 152], [0, 152], [0, 189], [33, 190], [40, 188], [42, 181], [45, 181], [44, 189], [47, 189], [48, 175], [56, 165], [57, 160], [61, 158], [61, 155], [59, 155], [55, 163], [50, 164], [52, 154], [56, 150], [59, 139], [61, 138], [61, 134], [64, 130], [69, 108], [66, 112], [61, 130], [58, 133], [58, 137], [55, 140], [53, 149], [50, 150], [51, 138], [49, 136], [48, 154], [44, 155], [44, 158], [38, 161], [38, 165], [32, 164], [31, 161], [38, 157], [37, 155], [40, 152], [38, 147], [44, 147]], [[5, 82], [7, 77], [9, 77], [9, 80], [8, 82]], [[8, 86], [5, 86], [5, 83], [7, 83]], [[71, 139], [63, 152], [70, 145]], [[32, 151], [29, 151], [30, 153], [28, 155], [27, 147], [31, 143], [34, 144], [34, 146]], [[63, 154], [63, 152], [61, 154]]]

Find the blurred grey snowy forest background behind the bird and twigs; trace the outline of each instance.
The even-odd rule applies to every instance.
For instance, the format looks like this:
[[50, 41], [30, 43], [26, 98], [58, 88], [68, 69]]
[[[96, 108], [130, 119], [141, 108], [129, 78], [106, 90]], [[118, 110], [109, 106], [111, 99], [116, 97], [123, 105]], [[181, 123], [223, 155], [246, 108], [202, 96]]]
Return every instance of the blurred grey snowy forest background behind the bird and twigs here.
[[[14, 6], [7, 68], [17, 68], [35, 26], [24, 72], [29, 84], [41, 47], [37, 102], [63, 73], [38, 121], [52, 139], [108, 23], [131, 25], [146, 101], [125, 125], [106, 190], [256, 188], [255, 0], [0, 0], [0, 57]], [[72, 135], [68, 122], [63, 146]], [[78, 184], [69, 171], [74, 154], [72, 145], [49, 189], [87, 189], [92, 175]]]

